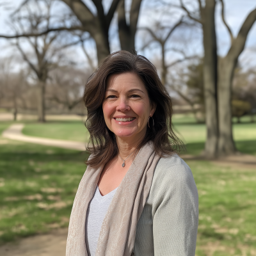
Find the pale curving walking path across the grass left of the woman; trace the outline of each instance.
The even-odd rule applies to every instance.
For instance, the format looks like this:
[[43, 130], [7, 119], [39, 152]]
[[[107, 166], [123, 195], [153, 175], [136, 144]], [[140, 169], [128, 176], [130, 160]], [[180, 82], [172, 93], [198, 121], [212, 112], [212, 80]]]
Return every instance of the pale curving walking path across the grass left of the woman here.
[[81, 151], [85, 150], [85, 143], [79, 141], [54, 140], [24, 135], [22, 134], [23, 127], [24, 124], [13, 124], [3, 132], [2, 136], [10, 140], [19, 140], [40, 145], [68, 148]]

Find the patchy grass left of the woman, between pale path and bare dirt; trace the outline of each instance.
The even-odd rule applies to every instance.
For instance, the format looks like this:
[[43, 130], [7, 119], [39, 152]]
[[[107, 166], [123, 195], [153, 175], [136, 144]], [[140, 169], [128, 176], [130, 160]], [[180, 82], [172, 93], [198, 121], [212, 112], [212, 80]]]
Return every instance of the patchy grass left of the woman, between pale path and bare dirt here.
[[67, 227], [87, 154], [11, 142], [0, 156], [0, 243]]

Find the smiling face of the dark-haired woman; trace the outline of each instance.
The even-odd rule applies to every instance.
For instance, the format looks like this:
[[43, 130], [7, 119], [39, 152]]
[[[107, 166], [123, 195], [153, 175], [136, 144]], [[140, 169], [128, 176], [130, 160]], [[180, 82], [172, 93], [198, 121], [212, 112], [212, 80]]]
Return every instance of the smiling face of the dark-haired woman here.
[[124, 73], [108, 77], [102, 109], [106, 125], [116, 136], [140, 140], [146, 134], [148, 116], [156, 108], [140, 77]]

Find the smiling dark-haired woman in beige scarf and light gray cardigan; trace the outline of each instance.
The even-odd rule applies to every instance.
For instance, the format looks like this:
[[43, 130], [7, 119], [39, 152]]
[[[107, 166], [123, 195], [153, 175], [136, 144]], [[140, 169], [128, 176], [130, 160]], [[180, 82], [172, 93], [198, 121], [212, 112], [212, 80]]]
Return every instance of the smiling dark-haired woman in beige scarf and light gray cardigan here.
[[88, 168], [70, 217], [68, 256], [195, 255], [198, 194], [175, 152], [172, 102], [145, 57], [115, 52], [84, 92]]

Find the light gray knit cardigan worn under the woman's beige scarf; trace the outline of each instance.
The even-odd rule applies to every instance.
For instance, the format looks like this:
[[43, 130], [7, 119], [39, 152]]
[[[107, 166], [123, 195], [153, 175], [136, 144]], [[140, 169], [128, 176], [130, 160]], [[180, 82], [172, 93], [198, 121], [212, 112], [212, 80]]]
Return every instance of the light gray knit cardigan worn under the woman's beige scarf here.
[[135, 256], [194, 256], [198, 193], [191, 170], [179, 156], [161, 158], [137, 224]]

